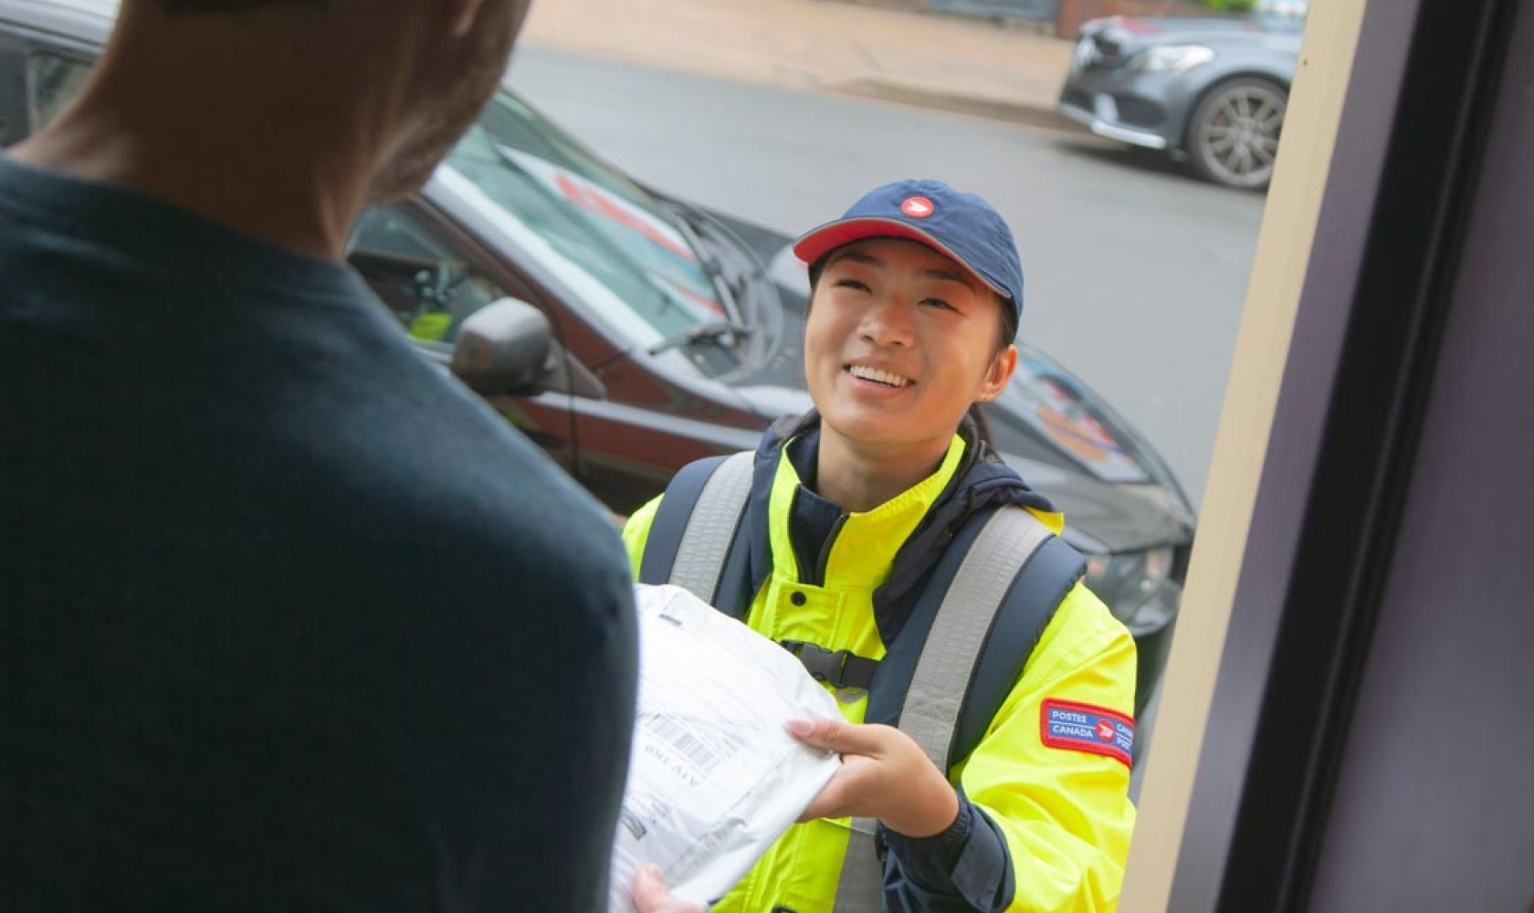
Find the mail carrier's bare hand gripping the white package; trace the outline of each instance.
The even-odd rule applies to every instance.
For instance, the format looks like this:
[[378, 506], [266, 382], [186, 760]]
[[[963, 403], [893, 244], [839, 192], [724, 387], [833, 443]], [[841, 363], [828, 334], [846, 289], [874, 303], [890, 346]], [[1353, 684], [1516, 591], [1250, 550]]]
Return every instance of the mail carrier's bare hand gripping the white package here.
[[877, 818], [905, 836], [942, 833], [959, 816], [959, 796], [916, 741], [893, 726], [790, 720], [788, 733], [830, 749], [842, 766], [799, 821]]

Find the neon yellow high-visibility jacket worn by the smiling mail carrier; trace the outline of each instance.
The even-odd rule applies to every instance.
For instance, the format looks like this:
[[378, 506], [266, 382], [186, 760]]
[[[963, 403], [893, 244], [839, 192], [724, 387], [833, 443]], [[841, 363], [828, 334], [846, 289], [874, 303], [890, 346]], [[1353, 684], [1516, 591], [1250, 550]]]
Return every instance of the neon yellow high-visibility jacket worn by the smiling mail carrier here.
[[[943, 496], [950, 480], [973, 463], [965, 460], [966, 448], [965, 436], [956, 434], [933, 476], [868, 513], [845, 516], [821, 559], [822, 568], [801, 574], [790, 543], [799, 471], [788, 457], [790, 448], [779, 443], [776, 471], [767, 473], [772, 571], [755, 594], [747, 623], [773, 640], [882, 658], [885, 643], [874, 617], [874, 589], [890, 578], [896, 552], [917, 531], [922, 517], [963, 491], [959, 485]], [[989, 471], [994, 479], [994, 466]], [[660, 500], [635, 511], [624, 528], [635, 569]], [[1060, 514], [1039, 506], [1028, 509], [1055, 532], [1062, 529]], [[822, 569], [821, 585], [805, 583]], [[1094, 710], [1098, 724], [1106, 718], [1129, 721], [1134, 687], [1134, 640], [1077, 583], [1045, 628], [1022, 678], [979, 746], [948, 772], [950, 783], [960, 790], [960, 803], [979, 812], [968, 818], [968, 833], [951, 827], [925, 839], [888, 836], [893, 875], [885, 881], [885, 896], [899, 904], [891, 908], [1112, 910], [1135, 821], [1127, 798], [1129, 764], [1111, 752], [1094, 750], [1100, 746], [1092, 744], [1091, 727], [1083, 730], [1072, 721], [1091, 723]], [[862, 723], [868, 703], [864, 692], [842, 692], [838, 700], [847, 721]], [[1072, 717], [1075, 712], [1088, 715], [1078, 720]], [[960, 819], [965, 818], [962, 812]], [[712, 910], [830, 913], [848, 826], [845, 818], [793, 826]]]

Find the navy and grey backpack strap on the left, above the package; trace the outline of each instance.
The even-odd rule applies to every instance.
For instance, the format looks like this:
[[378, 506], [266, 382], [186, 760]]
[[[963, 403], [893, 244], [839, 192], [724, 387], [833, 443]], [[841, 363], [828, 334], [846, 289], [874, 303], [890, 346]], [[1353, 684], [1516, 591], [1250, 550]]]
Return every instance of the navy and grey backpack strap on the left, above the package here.
[[719, 578], [752, 491], [750, 451], [681, 468], [655, 509], [640, 583], [675, 583], [716, 603]]

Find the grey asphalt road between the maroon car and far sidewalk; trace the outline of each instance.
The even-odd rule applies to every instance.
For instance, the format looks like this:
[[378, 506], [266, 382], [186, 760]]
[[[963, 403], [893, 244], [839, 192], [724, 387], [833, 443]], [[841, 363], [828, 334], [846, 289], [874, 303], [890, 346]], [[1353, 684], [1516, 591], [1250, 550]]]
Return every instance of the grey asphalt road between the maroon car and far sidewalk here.
[[538, 48], [511, 84], [641, 181], [788, 235], [896, 178], [985, 193], [1023, 255], [1023, 335], [1201, 500], [1262, 196], [1081, 133]]

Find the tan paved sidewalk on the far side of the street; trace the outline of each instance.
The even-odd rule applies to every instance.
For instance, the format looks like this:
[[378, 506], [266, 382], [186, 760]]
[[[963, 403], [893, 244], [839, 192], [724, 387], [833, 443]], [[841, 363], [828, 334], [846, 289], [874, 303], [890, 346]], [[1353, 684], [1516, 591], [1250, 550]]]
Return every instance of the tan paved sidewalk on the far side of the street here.
[[1068, 126], [1071, 43], [834, 0], [543, 0], [523, 43], [795, 89]]

